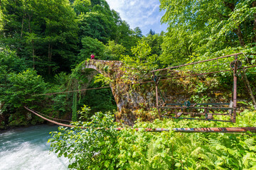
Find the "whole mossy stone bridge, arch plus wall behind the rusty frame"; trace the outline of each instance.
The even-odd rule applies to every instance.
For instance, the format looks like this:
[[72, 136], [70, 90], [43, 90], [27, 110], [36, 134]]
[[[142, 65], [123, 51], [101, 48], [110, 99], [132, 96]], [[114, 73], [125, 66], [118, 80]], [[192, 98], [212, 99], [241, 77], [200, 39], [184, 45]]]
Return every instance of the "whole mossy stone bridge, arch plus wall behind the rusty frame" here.
[[[152, 74], [144, 74], [143, 78], [138, 74], [129, 74], [125, 71], [120, 61], [87, 60], [83, 63], [82, 69], [96, 69], [103, 76], [110, 78], [110, 87], [117, 103], [119, 120], [124, 120], [129, 125], [137, 118], [143, 120], [153, 118], [145, 110], [156, 107], [156, 86], [154, 82], [137, 84], [143, 81], [150, 81]], [[106, 70], [107, 68], [107, 70]], [[164, 74], [164, 73], [162, 73]], [[185, 72], [174, 71], [170, 77], [184, 77]], [[133, 85], [131, 85], [133, 84]], [[229, 88], [229, 89], [228, 89]], [[159, 94], [159, 103], [229, 103], [232, 94], [232, 84], [225, 88], [218, 77], [184, 77], [180, 79], [167, 79], [159, 81], [159, 91], [165, 98], [165, 102]], [[239, 95], [238, 95], [239, 96]], [[239, 96], [244, 98], [245, 96]], [[131, 112], [129, 112], [129, 111]]]

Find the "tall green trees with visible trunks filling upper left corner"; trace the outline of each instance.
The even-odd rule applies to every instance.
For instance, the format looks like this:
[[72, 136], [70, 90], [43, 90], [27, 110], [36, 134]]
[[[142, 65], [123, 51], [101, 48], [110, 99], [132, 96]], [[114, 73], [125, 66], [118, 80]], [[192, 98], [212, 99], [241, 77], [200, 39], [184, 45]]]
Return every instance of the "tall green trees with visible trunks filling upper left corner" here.
[[68, 0], [4, 0], [1, 5], [2, 42], [17, 49], [18, 56], [41, 74], [70, 66], [78, 40], [78, 25]]

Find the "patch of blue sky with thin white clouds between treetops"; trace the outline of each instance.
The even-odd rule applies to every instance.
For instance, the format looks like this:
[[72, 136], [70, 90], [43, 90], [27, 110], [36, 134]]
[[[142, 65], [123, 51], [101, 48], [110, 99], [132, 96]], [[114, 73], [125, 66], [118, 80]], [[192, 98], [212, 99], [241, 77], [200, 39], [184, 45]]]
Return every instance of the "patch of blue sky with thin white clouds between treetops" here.
[[166, 32], [167, 24], [161, 24], [164, 11], [159, 11], [159, 0], [106, 0], [111, 9], [117, 11], [130, 28], [139, 27], [146, 35], [152, 29], [155, 33]]

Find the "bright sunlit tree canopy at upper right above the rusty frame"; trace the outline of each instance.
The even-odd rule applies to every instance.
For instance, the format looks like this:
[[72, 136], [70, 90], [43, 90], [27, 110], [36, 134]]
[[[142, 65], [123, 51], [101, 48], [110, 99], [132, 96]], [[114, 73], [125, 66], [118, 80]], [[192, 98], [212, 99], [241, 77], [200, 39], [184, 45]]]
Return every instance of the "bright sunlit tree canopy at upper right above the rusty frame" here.
[[161, 21], [169, 23], [161, 56], [163, 62], [168, 58], [180, 62], [192, 54], [211, 55], [230, 47], [234, 51], [254, 46], [255, 1], [160, 2], [160, 8], [166, 11]]

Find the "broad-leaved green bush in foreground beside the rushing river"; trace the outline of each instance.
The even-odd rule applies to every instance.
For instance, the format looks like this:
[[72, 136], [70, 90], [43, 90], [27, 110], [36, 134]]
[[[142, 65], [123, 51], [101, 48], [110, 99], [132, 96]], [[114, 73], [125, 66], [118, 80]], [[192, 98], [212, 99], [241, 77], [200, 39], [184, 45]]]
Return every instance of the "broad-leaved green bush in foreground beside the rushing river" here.
[[[88, 110], [87, 110], [88, 111]], [[83, 114], [87, 114], [83, 110]], [[60, 127], [60, 132], [52, 132], [49, 140], [58, 157], [68, 157], [69, 169], [114, 169], [117, 164], [117, 132], [113, 115], [95, 113], [90, 122], [78, 122], [87, 129]]]

